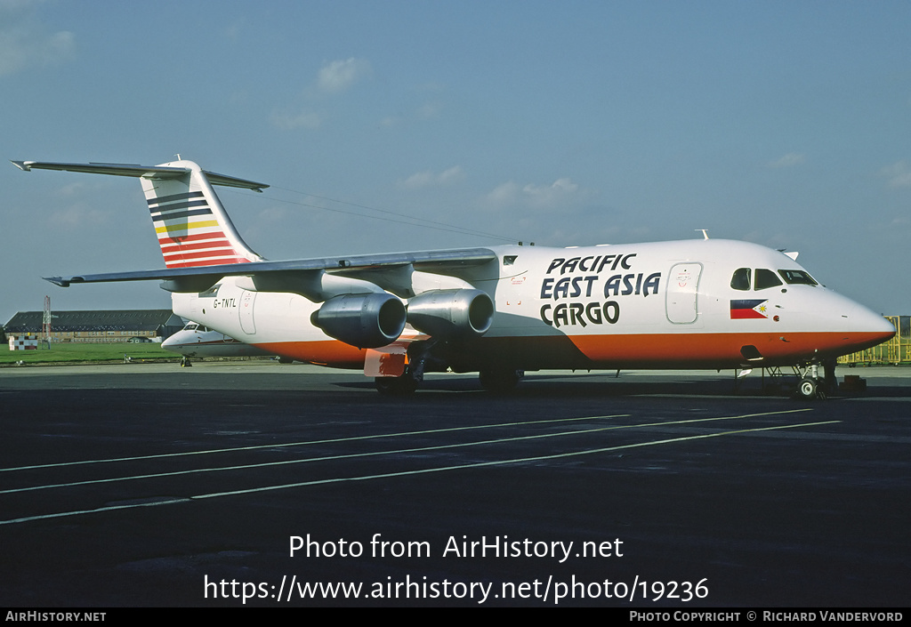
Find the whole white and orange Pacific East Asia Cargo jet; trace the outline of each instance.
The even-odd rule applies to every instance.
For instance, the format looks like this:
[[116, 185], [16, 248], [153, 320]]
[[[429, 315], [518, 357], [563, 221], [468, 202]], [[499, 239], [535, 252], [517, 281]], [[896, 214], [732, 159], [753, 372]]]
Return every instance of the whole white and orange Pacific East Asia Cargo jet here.
[[796, 253], [751, 242], [703, 233], [274, 262], [243, 242], [213, 189], [263, 183], [179, 156], [157, 166], [13, 163], [138, 178], [165, 261], [159, 270], [48, 281], [160, 281], [175, 314], [269, 354], [363, 369], [383, 393], [412, 393], [426, 372], [447, 370], [477, 372], [485, 389], [506, 391], [540, 369], [792, 366], [797, 394], [816, 398], [834, 384], [838, 356], [896, 333], [816, 282]]

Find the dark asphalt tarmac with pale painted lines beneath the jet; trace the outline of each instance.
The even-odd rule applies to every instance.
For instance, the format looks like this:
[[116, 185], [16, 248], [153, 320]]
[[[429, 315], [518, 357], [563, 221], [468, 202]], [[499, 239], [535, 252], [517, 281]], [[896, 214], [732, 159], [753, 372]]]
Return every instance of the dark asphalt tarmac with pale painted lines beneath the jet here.
[[838, 375], [3, 368], [0, 606], [903, 606], [911, 369]]

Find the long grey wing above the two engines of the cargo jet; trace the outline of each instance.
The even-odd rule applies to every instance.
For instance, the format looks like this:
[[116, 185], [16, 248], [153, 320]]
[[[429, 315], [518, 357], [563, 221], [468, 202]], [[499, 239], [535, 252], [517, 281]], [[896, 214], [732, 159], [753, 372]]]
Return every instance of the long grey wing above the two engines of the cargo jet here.
[[408, 266], [417, 271], [459, 276], [462, 272], [496, 260], [496, 253], [486, 248], [467, 248], [449, 251], [392, 252], [348, 257], [324, 257], [282, 262], [249, 262], [208, 265], [191, 268], [169, 268], [138, 272], [77, 274], [45, 277], [61, 287], [72, 283], [112, 283], [122, 281], [165, 281], [170, 292], [202, 292], [226, 276], [251, 276], [280, 279], [301, 272], [328, 272], [377, 283], [375, 278], [384, 272], [395, 272]]

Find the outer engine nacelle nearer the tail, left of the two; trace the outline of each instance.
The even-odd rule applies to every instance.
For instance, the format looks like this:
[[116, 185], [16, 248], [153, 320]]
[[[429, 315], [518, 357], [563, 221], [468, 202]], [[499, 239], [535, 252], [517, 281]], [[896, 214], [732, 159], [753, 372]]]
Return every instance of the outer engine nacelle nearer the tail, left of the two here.
[[310, 321], [345, 344], [378, 348], [402, 334], [405, 309], [391, 293], [340, 294], [322, 303]]

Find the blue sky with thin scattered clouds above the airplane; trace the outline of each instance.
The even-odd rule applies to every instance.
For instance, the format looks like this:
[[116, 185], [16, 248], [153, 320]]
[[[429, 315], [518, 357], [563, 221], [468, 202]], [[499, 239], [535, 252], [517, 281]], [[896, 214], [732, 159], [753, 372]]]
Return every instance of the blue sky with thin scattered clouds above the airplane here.
[[[0, 146], [269, 183], [220, 198], [270, 259], [708, 229], [911, 314], [909, 32], [888, 0], [0, 0]], [[2, 321], [170, 306], [40, 279], [163, 265], [136, 180], [0, 190]]]

